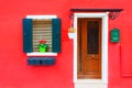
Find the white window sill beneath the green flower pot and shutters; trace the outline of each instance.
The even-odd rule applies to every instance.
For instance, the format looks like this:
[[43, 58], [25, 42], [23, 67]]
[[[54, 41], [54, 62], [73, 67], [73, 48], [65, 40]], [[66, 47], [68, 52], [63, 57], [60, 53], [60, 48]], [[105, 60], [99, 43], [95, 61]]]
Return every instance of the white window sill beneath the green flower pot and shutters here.
[[26, 56], [57, 56], [57, 53], [26, 53]]

